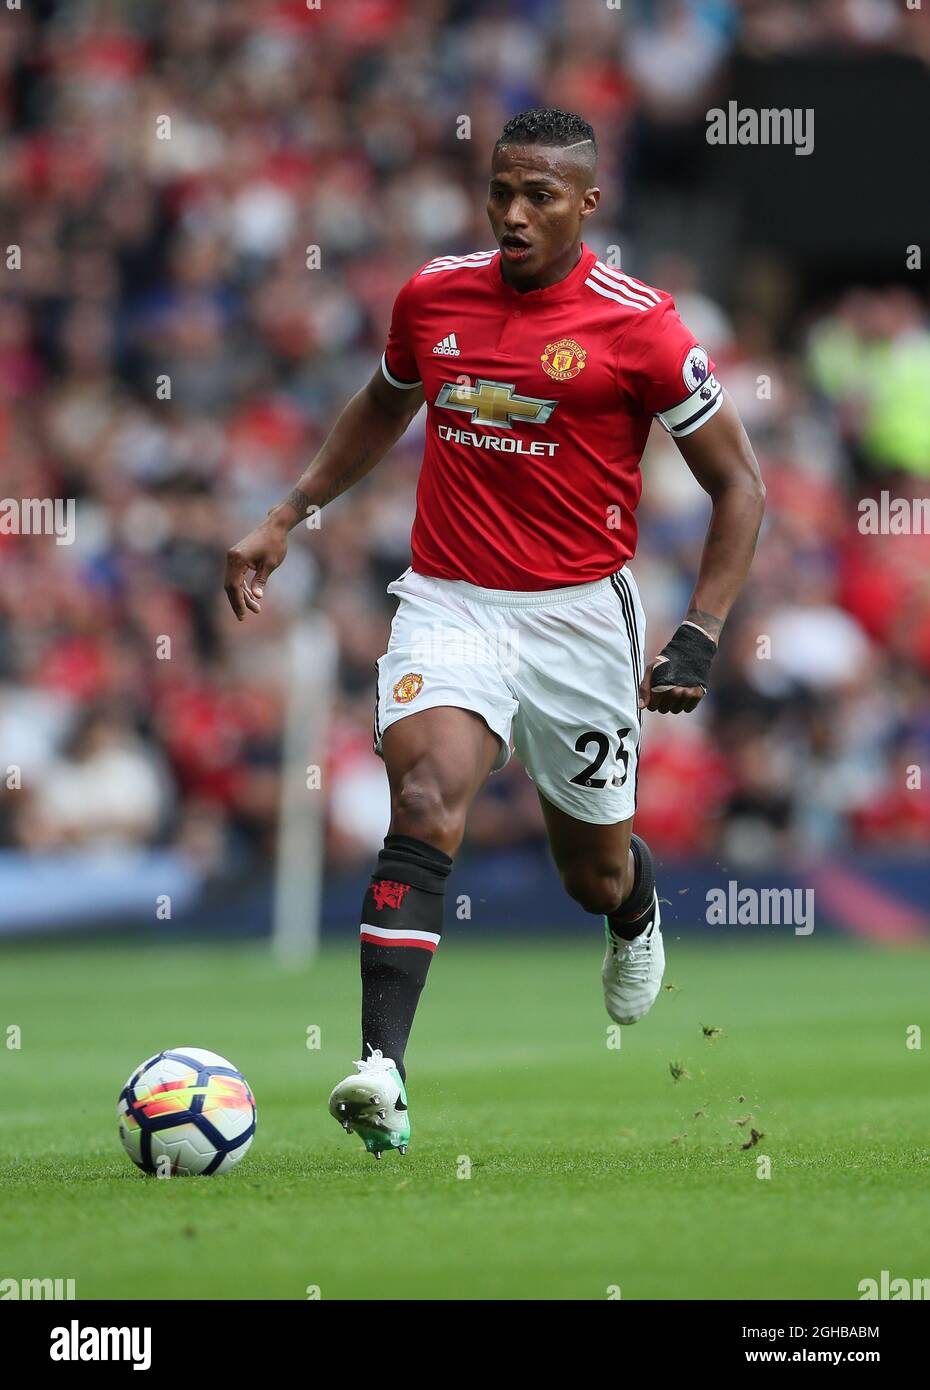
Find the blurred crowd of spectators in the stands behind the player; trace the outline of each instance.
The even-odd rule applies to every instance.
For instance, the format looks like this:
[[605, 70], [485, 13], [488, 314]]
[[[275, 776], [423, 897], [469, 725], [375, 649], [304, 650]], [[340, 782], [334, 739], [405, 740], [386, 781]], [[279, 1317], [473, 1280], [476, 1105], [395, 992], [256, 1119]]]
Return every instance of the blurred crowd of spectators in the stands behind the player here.
[[[927, 304], [851, 286], [785, 334], [772, 306], [790, 267], [756, 264], [749, 299], [734, 272], [717, 302], [695, 259], [637, 245], [635, 208], [667, 167], [648, 153], [694, 138], [733, 54], [823, 44], [930, 60], [923, 18], [891, 0], [4, 10], [0, 493], [74, 498], [76, 525], [57, 545], [0, 520], [0, 844], [170, 844], [209, 876], [267, 860], [285, 638], [318, 607], [339, 638], [328, 858], [368, 863], [388, 812], [374, 660], [385, 585], [409, 563], [423, 416], [318, 531], [295, 532], [260, 620], [232, 619], [222, 557], [373, 373], [400, 284], [432, 254], [492, 245], [491, 146], [546, 104], [599, 135], [591, 245], [623, 245], [624, 268], [676, 295], [769, 488], [712, 695], [646, 717], [637, 828], [663, 855], [724, 865], [926, 847], [927, 538], [865, 534], [859, 500], [930, 489]], [[660, 430], [644, 474], [634, 573], [652, 653], [687, 607], [708, 505]], [[512, 760], [468, 845], [541, 835]]]

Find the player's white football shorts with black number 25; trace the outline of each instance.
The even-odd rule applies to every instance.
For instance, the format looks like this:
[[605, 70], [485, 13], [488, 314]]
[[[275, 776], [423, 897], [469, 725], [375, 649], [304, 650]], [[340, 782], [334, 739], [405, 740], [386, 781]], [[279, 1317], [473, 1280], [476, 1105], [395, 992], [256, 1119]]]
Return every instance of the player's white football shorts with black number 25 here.
[[564, 589], [480, 589], [407, 570], [378, 660], [374, 748], [399, 719], [480, 714], [553, 806], [598, 826], [633, 816], [645, 614], [627, 569]]

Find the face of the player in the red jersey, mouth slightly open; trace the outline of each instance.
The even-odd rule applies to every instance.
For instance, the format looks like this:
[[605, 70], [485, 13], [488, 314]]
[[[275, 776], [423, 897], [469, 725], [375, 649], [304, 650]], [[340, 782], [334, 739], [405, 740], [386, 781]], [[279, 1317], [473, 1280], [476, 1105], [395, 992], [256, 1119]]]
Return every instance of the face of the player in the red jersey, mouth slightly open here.
[[488, 217], [512, 285], [542, 288], [569, 274], [584, 221], [601, 196], [584, 185], [577, 160], [564, 150], [539, 145], [495, 150]]

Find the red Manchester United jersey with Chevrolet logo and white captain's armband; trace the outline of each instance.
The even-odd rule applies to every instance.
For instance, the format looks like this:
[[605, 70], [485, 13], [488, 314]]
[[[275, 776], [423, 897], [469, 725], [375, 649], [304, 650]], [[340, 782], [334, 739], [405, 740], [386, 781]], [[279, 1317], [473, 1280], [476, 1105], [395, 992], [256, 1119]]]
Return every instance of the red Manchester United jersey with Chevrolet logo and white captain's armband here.
[[427, 261], [396, 297], [382, 370], [427, 399], [413, 569], [491, 589], [621, 569], [652, 417], [681, 436], [723, 403], [671, 296], [584, 245], [564, 279], [524, 293], [499, 252]]

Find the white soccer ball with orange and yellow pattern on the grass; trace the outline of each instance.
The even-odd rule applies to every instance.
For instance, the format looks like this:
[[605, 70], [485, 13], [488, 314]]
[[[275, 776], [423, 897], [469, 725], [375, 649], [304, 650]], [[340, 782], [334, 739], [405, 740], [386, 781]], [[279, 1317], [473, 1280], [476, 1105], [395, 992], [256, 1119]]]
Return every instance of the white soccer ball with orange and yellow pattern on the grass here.
[[136, 1068], [117, 1105], [122, 1147], [160, 1176], [227, 1173], [256, 1131], [249, 1083], [231, 1062], [199, 1047], [174, 1047]]

